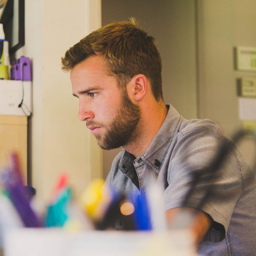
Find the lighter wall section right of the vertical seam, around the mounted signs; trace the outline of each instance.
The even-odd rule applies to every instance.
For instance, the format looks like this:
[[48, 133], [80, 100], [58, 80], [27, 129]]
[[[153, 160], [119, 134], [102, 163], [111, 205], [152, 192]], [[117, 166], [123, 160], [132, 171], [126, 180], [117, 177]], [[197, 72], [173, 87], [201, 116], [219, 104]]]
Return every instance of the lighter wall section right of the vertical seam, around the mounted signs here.
[[[234, 69], [233, 48], [256, 47], [255, 0], [198, 1], [198, 110], [200, 118], [218, 122], [229, 134], [242, 126], [236, 79], [256, 77]], [[250, 141], [240, 145], [252, 163]]]

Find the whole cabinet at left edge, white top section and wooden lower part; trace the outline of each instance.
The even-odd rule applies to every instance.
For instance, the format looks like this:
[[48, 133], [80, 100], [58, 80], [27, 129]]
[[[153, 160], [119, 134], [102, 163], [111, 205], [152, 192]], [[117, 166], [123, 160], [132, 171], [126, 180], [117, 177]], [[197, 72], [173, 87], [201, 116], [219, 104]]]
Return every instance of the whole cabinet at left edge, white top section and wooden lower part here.
[[[9, 154], [19, 155], [27, 181], [27, 116], [32, 111], [31, 81], [0, 80], [0, 167], [8, 164]], [[23, 99], [24, 111], [18, 108]]]

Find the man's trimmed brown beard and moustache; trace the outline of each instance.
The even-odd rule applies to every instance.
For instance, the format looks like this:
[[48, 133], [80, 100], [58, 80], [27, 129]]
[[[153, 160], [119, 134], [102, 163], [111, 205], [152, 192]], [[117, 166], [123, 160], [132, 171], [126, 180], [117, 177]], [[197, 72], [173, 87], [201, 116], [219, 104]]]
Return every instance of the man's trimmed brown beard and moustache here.
[[[106, 128], [105, 134], [95, 134], [98, 145], [102, 149], [113, 149], [127, 145], [140, 135], [138, 123], [141, 118], [140, 108], [133, 104], [128, 97], [126, 90], [122, 92], [121, 103], [117, 110], [117, 114], [109, 127]], [[93, 121], [88, 121], [88, 125], [98, 125]]]

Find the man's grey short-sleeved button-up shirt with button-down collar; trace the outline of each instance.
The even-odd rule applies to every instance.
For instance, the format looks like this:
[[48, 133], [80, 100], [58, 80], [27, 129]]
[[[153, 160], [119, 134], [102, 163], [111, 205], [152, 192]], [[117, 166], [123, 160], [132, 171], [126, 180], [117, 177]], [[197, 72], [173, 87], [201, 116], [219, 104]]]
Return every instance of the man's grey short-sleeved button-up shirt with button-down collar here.
[[[198, 253], [256, 255], [256, 181], [244, 157], [211, 120], [186, 120], [172, 105], [166, 106], [166, 119], [145, 153], [136, 159], [122, 150], [106, 182], [134, 199], [145, 189], [148, 175], [157, 175], [164, 187], [165, 210], [184, 206], [185, 199], [185, 206], [198, 208], [213, 184], [212, 193], [199, 209], [214, 222]], [[227, 160], [212, 180], [201, 179], [189, 195], [192, 173], [207, 169], [222, 143], [230, 146]]]

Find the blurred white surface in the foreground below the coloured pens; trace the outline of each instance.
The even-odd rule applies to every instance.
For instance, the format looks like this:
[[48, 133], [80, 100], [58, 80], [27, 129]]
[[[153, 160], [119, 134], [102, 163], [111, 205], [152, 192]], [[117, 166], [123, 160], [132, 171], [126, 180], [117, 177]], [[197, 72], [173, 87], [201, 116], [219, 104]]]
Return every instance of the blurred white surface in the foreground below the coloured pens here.
[[[9, 230], [5, 256], [195, 256], [187, 230], [168, 232]], [[15, 244], [15, 246], [14, 246]]]

